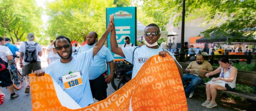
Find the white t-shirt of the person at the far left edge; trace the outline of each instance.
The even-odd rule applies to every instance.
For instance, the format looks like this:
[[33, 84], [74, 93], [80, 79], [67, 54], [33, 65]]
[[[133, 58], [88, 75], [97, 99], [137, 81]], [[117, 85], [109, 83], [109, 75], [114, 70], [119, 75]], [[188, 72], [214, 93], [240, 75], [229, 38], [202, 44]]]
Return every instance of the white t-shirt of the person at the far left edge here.
[[[12, 51], [8, 47], [0, 45], [0, 57], [6, 63], [8, 63], [8, 60], [6, 57], [7, 55], [13, 55]], [[9, 65], [8, 65], [7, 69], [10, 69]]]

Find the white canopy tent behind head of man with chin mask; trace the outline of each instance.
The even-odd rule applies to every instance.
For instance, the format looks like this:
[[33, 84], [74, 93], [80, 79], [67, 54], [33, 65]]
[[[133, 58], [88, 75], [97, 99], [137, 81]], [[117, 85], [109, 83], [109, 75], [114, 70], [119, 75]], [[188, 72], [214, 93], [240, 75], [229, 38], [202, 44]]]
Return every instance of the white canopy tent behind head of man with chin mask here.
[[[141, 36], [142, 36], [142, 40], [145, 40], [144, 38], [144, 30], [145, 27], [140, 21], [137, 20], [137, 40], [141, 40]], [[160, 38], [166, 38], [168, 35], [167, 31], [160, 31]]]

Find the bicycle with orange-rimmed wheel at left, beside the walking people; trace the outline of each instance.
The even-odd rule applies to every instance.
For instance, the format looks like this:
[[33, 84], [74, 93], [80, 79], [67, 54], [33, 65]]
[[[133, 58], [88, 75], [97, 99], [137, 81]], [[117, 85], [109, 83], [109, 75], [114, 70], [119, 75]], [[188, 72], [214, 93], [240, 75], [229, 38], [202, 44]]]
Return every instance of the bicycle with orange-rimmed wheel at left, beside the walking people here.
[[[15, 56], [19, 58], [19, 56]], [[11, 74], [12, 74], [12, 81], [13, 81], [13, 88], [16, 90], [20, 90], [23, 85], [23, 78], [24, 76], [20, 74], [20, 71], [17, 69], [15, 61], [9, 61], [9, 65], [11, 68]]]

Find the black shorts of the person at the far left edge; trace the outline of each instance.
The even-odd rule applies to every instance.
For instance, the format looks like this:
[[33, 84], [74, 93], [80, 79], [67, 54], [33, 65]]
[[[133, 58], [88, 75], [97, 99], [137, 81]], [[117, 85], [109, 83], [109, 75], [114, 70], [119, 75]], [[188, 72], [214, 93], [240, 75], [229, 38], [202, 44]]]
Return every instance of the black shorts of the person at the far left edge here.
[[0, 72], [0, 86], [1, 87], [7, 87], [13, 84], [12, 79], [11, 79], [11, 74], [8, 69], [5, 69]]

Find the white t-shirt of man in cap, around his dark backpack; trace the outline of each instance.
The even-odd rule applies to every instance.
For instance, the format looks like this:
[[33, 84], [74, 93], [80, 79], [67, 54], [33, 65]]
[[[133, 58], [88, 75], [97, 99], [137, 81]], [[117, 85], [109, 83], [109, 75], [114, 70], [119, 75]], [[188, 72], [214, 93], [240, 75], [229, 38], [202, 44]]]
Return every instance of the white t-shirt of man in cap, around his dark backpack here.
[[[36, 42], [35, 42], [35, 41], [32, 41], [32, 40], [27, 41], [27, 44], [33, 44], [33, 45], [34, 45], [35, 43], [36, 43]], [[24, 54], [25, 54], [25, 48], [26, 48], [26, 44], [25, 44], [24, 42], [20, 43], [19, 52], [24, 52]], [[39, 55], [38, 55], [38, 53], [39, 53], [40, 51], [42, 51], [42, 47], [40, 46], [40, 44], [37, 44], [37, 45], [36, 45], [36, 55], [37, 55], [36, 61], [39, 61], [39, 62], [41, 61], [40, 58], [39, 58]], [[25, 62], [25, 61], [24, 61], [24, 57], [23, 57], [23, 65], [27, 65], [27, 64], [29, 64], [29, 63]]]

